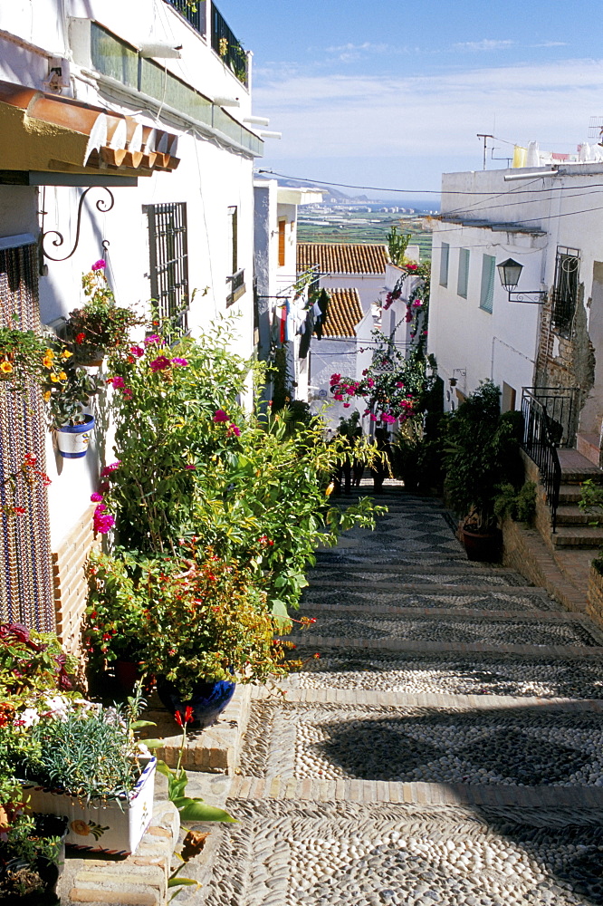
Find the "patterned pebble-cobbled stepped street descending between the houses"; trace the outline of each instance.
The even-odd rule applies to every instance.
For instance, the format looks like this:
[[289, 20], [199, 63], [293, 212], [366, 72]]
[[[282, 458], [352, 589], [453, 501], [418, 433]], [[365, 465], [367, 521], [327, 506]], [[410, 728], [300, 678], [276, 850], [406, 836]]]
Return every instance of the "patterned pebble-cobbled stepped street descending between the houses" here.
[[[603, 906], [603, 635], [471, 564], [433, 499], [319, 554], [198, 906]], [[298, 652], [296, 652], [298, 653]]]

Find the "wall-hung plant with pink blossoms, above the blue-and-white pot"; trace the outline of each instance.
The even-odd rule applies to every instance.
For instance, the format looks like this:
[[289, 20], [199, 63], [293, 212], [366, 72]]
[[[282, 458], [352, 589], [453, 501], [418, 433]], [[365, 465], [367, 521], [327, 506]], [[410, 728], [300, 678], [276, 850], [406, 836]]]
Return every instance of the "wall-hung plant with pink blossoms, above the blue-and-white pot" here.
[[129, 308], [115, 304], [101, 258], [81, 277], [86, 302], [69, 314], [65, 340], [72, 344], [75, 359], [83, 365], [99, 365], [106, 352], [123, 346], [129, 330], [141, 319]]

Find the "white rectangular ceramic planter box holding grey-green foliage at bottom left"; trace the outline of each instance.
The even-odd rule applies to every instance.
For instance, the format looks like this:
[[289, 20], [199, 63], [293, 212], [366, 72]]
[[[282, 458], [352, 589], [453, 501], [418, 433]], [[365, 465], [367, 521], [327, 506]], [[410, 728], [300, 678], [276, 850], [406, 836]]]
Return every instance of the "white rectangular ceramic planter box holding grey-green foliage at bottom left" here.
[[42, 786], [24, 786], [24, 793], [32, 811], [67, 816], [68, 846], [90, 853], [129, 855], [136, 852], [153, 814], [156, 767], [157, 758], [151, 758], [128, 800], [104, 805], [84, 805], [81, 799]]

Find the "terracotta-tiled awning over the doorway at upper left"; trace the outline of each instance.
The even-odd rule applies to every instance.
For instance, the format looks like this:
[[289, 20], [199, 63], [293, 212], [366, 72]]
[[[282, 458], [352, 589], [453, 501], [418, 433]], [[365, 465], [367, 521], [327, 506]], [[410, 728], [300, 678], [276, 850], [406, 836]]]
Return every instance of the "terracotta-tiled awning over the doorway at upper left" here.
[[72, 98], [0, 82], [0, 170], [150, 176], [177, 168], [177, 135]]

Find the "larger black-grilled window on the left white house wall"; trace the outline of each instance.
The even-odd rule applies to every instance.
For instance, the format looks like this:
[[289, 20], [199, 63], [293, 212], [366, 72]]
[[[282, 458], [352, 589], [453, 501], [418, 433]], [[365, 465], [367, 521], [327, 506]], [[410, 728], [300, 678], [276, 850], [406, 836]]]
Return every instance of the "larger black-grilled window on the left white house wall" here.
[[160, 319], [172, 318], [178, 333], [188, 329], [187, 205], [147, 205], [151, 298]]

